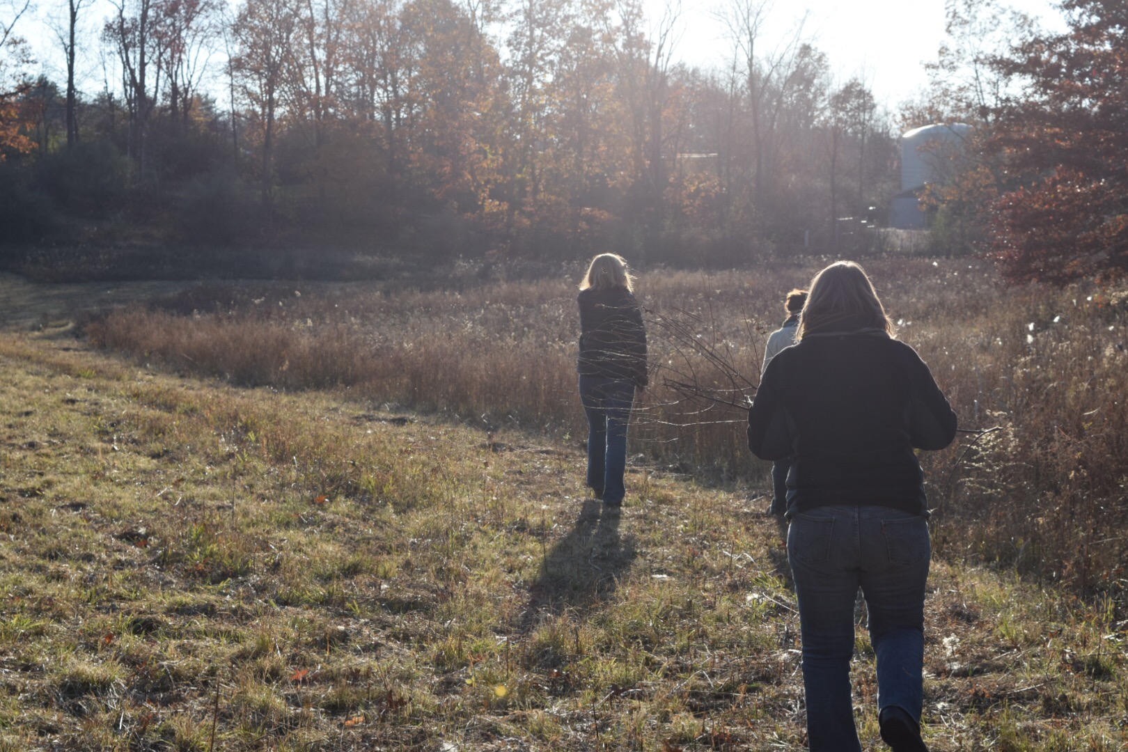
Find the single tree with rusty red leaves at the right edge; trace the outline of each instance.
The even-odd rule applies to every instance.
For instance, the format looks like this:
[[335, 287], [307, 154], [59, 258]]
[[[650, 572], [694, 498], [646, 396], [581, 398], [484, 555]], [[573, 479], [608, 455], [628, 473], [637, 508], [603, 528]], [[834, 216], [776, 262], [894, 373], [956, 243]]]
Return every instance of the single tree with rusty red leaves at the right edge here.
[[1128, 272], [1128, 5], [1066, 0], [1068, 28], [996, 62], [1017, 89], [986, 147], [1008, 189], [992, 255], [1012, 281], [1064, 284]]

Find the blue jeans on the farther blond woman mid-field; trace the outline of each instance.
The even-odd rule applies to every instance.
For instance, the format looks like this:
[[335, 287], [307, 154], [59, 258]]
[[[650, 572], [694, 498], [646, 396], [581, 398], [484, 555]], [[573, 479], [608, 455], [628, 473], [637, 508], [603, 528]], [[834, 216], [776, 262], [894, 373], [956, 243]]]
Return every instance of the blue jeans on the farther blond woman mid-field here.
[[588, 486], [602, 494], [603, 504], [622, 504], [634, 382], [581, 375], [580, 401], [588, 415]]

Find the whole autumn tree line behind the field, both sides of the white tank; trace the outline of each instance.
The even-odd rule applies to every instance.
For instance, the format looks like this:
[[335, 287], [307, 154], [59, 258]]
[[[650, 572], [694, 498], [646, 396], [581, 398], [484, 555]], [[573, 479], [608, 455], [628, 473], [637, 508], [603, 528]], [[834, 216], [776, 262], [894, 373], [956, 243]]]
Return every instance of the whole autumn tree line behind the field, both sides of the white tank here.
[[[1065, 0], [1055, 30], [953, 0], [898, 113], [801, 25], [768, 35], [760, 0], [719, 11], [712, 70], [677, 62], [677, 11], [638, 0], [112, 0], [77, 36], [91, 1], [67, 0], [52, 81], [27, 73], [28, 0], [0, 0], [0, 241], [856, 254], [899, 192], [898, 133], [959, 122], [920, 196], [934, 250], [1014, 281], [1128, 271], [1122, 0]], [[76, 87], [82, 45], [108, 61], [100, 91]]]

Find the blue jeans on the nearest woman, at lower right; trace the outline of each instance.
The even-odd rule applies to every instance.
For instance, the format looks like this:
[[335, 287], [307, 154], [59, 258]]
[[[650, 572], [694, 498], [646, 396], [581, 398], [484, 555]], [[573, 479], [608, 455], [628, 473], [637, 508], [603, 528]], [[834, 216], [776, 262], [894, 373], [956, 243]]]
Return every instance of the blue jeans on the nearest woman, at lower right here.
[[908, 512], [821, 506], [792, 516], [787, 559], [799, 599], [811, 752], [862, 750], [849, 683], [858, 587], [878, 655], [878, 710], [898, 706], [920, 722], [931, 555], [927, 521]]

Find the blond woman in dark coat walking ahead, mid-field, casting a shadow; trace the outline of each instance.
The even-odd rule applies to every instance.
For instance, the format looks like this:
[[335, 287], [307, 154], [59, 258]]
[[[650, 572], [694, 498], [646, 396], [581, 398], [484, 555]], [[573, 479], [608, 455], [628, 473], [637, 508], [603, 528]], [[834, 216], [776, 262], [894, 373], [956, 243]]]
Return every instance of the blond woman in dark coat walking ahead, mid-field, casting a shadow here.
[[580, 400], [588, 416], [588, 486], [617, 511], [626, 489], [627, 423], [646, 390], [646, 330], [626, 262], [591, 259], [580, 283]]

